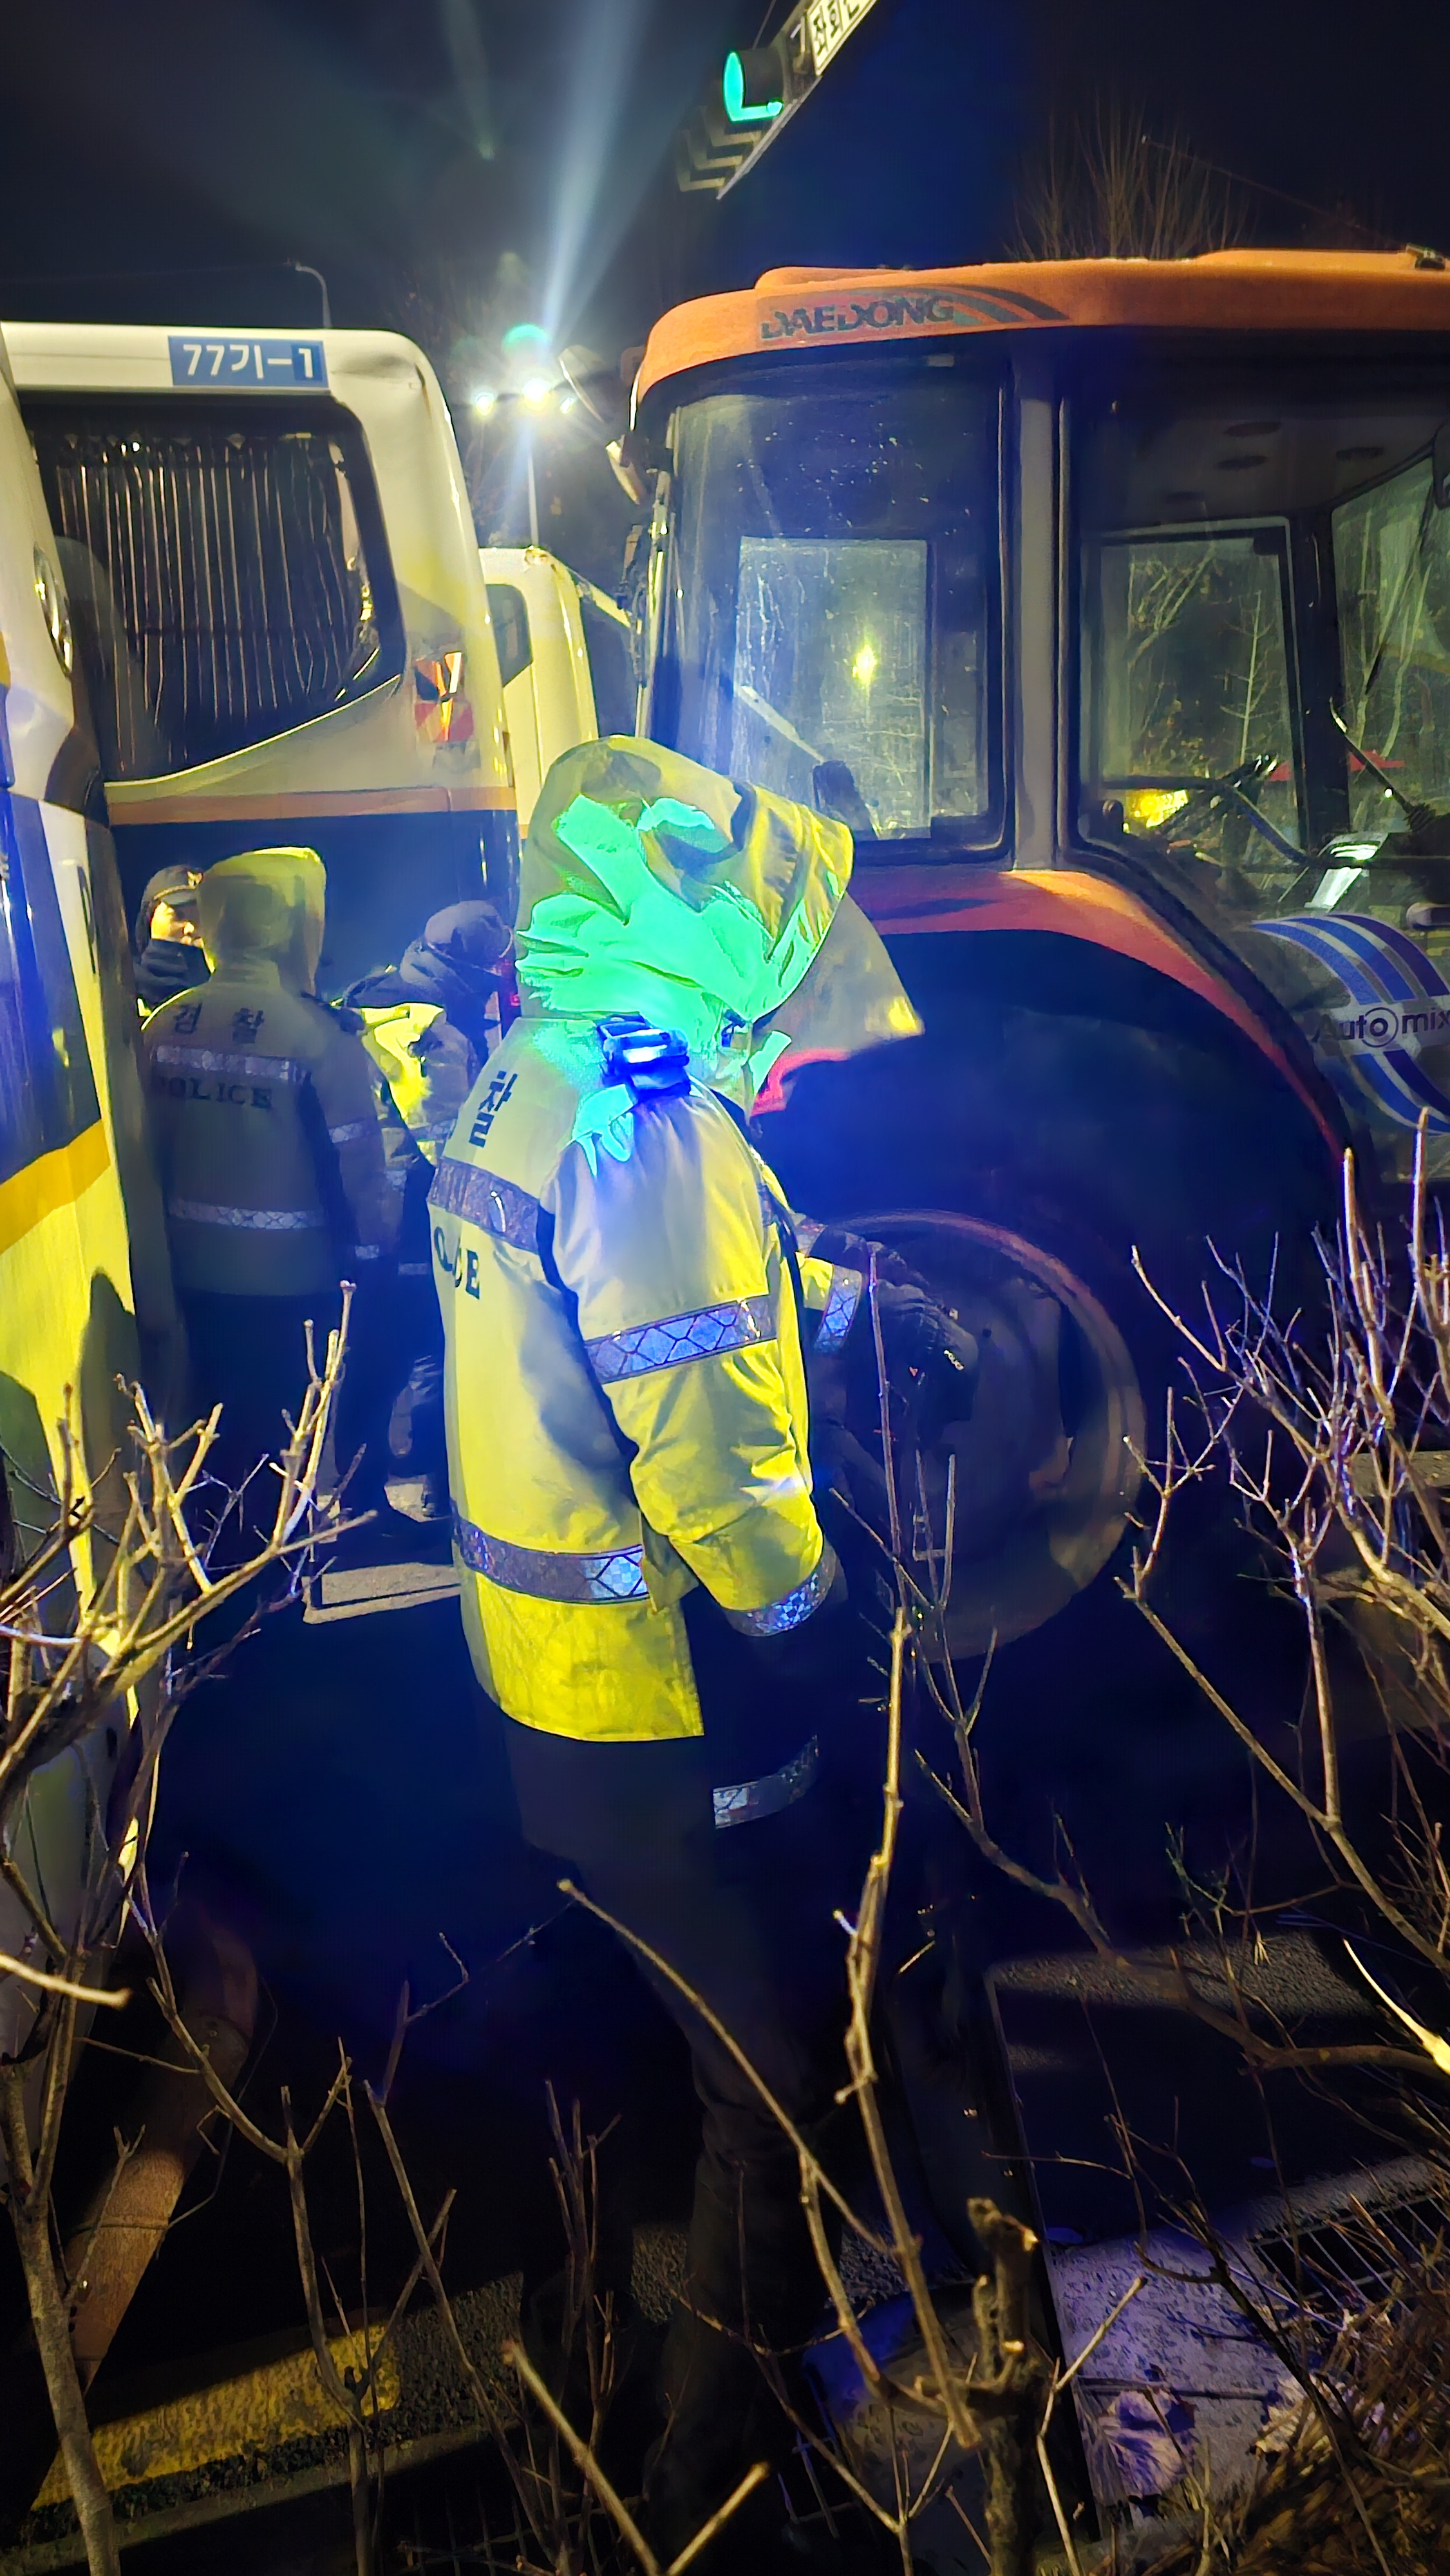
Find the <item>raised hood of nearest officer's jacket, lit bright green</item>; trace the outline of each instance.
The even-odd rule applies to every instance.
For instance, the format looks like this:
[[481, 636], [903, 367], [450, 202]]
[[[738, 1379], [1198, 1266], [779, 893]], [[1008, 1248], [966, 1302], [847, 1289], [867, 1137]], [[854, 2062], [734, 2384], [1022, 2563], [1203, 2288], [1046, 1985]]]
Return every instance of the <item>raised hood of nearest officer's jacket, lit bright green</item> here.
[[824, 814], [657, 742], [582, 742], [549, 770], [523, 848], [523, 1010], [641, 1012], [711, 1079], [796, 992], [850, 860]]

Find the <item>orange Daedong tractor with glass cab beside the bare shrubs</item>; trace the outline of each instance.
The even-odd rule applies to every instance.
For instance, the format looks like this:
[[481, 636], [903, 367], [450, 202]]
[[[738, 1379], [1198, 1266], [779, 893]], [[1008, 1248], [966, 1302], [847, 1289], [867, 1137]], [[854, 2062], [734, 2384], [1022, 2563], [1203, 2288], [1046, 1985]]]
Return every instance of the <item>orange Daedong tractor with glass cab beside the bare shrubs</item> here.
[[1172, 1365], [1133, 1255], [1293, 1288], [1344, 1144], [1447, 1151], [1450, 273], [778, 268], [657, 322], [621, 469], [636, 729], [855, 829], [925, 1020], [767, 1141], [986, 1334], [979, 1651], [1123, 1535]]

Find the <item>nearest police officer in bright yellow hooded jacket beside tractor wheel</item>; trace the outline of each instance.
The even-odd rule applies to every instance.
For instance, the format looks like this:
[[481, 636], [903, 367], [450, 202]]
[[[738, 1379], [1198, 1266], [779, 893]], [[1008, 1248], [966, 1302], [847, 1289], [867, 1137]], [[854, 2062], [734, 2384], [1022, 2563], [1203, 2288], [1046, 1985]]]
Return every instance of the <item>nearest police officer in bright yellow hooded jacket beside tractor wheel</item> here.
[[[845, 1340], [863, 1283], [811, 1257], [742, 1113], [837, 920], [858, 1043], [919, 1025], [855, 907], [845, 938], [850, 860], [845, 824], [657, 744], [567, 752], [523, 855], [523, 1018], [433, 1182], [464, 1620], [525, 1837], [688, 1978], [806, 2133], [842, 2081], [816, 1783], [850, 1687], [806, 1355]], [[703, 2102], [652, 2476], [670, 2555], [791, 2439], [749, 2347], [798, 2347], [822, 2282], [793, 2148], [659, 1991]]]

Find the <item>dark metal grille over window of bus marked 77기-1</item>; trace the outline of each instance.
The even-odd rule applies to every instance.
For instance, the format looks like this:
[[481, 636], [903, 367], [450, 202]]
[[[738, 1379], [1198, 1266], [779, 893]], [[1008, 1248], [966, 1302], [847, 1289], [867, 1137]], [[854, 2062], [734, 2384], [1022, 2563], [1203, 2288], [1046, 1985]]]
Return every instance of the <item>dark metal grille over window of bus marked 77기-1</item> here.
[[31, 430], [108, 778], [219, 760], [386, 677], [332, 433], [49, 412]]

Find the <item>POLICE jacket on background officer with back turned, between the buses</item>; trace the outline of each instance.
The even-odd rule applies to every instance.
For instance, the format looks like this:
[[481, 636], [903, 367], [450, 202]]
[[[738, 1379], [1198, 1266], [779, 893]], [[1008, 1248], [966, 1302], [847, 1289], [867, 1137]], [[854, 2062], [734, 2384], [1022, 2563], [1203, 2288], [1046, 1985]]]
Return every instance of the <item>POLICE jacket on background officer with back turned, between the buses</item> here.
[[178, 1288], [306, 1296], [397, 1234], [371, 1064], [309, 984], [325, 871], [312, 850], [209, 868], [211, 981], [142, 1030]]

